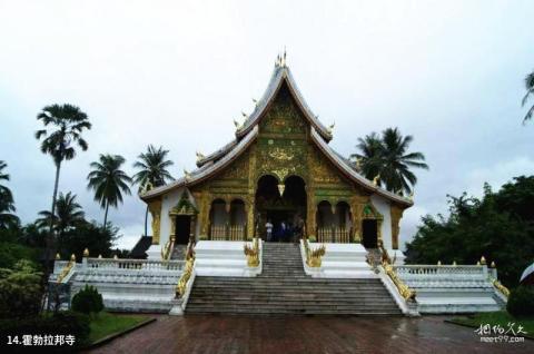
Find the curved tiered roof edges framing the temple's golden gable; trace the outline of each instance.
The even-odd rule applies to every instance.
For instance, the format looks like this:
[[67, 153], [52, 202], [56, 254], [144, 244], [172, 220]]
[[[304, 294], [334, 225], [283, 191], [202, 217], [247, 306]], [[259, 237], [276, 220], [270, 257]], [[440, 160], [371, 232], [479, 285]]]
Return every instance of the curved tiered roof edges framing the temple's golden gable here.
[[300, 91], [293, 79], [291, 72], [285, 65], [277, 63], [270, 78], [270, 82], [265, 91], [263, 98], [257, 102], [255, 110], [247, 117], [243, 126], [238, 127], [236, 131], [236, 138], [225, 145], [222, 148], [208, 156], [199, 156], [197, 160], [198, 169], [188, 173], [185, 177], [179, 178], [168, 185], [160, 186], [150, 189], [140, 195], [141, 199], [148, 200], [150, 198], [160, 196], [168, 190], [178, 187], [190, 187], [197, 185], [214, 174], [221, 171], [229, 164], [231, 164], [237, 157], [239, 157], [249, 146], [254, 142], [258, 136], [259, 128], [258, 122], [261, 117], [268, 110], [270, 104], [275, 100], [280, 87], [286, 82], [289, 88], [295, 102], [299, 107], [304, 117], [310, 124], [310, 137], [312, 141], [323, 151], [323, 154], [330, 160], [330, 163], [337, 167], [337, 169], [353, 180], [357, 185], [362, 186], [370, 193], [376, 193], [392, 201], [398, 203], [404, 206], [412, 206], [413, 201], [409, 198], [388, 191], [372, 180], [368, 180], [364, 176], [359, 175], [355, 169], [354, 164], [348, 159], [336, 153], [328, 142], [332, 140], [332, 130], [326, 128], [309, 109], [308, 105], [304, 100]]

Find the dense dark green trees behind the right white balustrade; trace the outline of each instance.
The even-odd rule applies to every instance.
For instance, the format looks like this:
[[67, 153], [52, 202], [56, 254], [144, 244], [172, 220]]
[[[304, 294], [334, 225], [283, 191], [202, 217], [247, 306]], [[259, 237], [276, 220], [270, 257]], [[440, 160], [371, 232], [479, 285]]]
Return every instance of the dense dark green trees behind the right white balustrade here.
[[449, 215], [424, 216], [414, 239], [406, 245], [412, 264], [475, 264], [481, 256], [495, 262], [498, 277], [514, 287], [534, 255], [534, 176], [493, 193], [484, 187], [482, 199], [448, 197]]

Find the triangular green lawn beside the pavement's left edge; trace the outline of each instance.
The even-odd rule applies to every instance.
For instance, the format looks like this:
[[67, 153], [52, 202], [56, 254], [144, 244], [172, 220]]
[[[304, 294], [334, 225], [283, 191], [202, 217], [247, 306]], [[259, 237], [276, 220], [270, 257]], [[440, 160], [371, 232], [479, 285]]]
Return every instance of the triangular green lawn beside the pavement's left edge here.
[[91, 317], [89, 343], [95, 343], [108, 335], [129, 330], [149, 318], [150, 316], [144, 315], [121, 315], [101, 312]]

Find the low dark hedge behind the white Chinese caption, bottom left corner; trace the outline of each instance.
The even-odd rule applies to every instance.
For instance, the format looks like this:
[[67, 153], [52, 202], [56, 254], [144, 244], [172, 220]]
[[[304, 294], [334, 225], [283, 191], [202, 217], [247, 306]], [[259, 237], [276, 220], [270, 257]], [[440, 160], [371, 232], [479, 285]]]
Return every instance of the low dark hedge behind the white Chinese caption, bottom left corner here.
[[[62, 346], [53, 347], [55, 351], [69, 352], [72, 351], [72, 347], [80, 347], [88, 344], [90, 332], [89, 323], [89, 316], [75, 312], [60, 312], [56, 315], [36, 316], [21, 321], [3, 319], [0, 321], [0, 336], [3, 340], [6, 340], [8, 335], [12, 338], [18, 336], [19, 341], [21, 341], [23, 335], [72, 335], [75, 337], [72, 346], [63, 344]], [[6, 345], [6, 342], [1, 344]], [[11, 345], [10, 350], [13, 350], [13, 345]]]

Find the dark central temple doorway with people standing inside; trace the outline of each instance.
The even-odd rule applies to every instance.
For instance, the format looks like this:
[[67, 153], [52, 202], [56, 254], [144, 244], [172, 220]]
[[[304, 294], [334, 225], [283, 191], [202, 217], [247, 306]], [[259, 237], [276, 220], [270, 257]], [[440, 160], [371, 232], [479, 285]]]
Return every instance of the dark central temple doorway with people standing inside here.
[[306, 189], [301, 177], [289, 176], [280, 184], [271, 175], [258, 180], [256, 223], [266, 242], [298, 242], [306, 225]]

